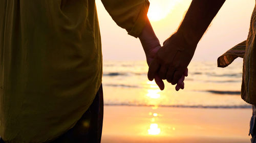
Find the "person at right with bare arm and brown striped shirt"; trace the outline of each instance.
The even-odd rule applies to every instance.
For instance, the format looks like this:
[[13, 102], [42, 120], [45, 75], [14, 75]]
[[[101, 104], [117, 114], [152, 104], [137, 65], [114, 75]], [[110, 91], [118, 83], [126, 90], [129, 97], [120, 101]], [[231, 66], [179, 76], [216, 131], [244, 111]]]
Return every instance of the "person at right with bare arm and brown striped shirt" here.
[[[193, 58], [199, 40], [207, 30], [212, 19], [216, 16], [225, 0], [205, 1], [193, 0], [178, 31], [164, 42], [148, 70], [148, 79], [153, 80], [156, 74], [161, 79], [166, 79], [176, 84], [182, 76], [189, 62]], [[256, 8], [252, 13], [248, 38], [227, 53], [222, 55], [218, 64], [225, 67], [238, 56], [244, 58], [243, 81], [241, 96], [247, 103], [256, 105]], [[246, 48], [245, 48], [246, 47]], [[251, 142], [256, 142], [255, 136], [256, 109], [253, 106], [250, 132]]]

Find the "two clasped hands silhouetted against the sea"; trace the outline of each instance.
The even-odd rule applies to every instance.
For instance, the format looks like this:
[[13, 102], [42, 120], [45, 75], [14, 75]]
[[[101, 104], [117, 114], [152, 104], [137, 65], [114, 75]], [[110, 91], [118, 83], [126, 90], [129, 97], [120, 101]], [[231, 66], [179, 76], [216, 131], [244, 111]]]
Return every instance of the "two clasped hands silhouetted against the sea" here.
[[187, 66], [193, 58], [194, 51], [190, 51], [182, 34], [175, 33], [168, 38], [161, 47], [156, 38], [150, 42], [142, 42], [146, 54], [148, 79], [155, 79], [158, 87], [163, 90], [164, 82], [176, 85], [176, 91], [184, 89], [184, 79], [188, 75]]

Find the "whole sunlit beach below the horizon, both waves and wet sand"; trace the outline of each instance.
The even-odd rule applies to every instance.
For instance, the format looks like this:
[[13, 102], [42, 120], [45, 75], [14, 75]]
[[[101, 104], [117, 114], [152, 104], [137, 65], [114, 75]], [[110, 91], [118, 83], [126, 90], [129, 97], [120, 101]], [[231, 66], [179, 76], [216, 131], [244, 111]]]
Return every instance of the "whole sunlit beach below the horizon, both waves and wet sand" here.
[[147, 79], [144, 61], [103, 64], [102, 143], [250, 142], [251, 105], [241, 99], [242, 61], [192, 62], [185, 89]]

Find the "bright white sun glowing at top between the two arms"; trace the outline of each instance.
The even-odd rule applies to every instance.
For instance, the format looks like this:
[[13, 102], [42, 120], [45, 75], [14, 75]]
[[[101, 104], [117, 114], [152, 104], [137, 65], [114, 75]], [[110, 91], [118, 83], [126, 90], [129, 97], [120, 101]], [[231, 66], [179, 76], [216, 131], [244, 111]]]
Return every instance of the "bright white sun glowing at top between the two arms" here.
[[178, 0], [151, 0], [147, 17], [151, 21], [164, 19], [177, 4]]

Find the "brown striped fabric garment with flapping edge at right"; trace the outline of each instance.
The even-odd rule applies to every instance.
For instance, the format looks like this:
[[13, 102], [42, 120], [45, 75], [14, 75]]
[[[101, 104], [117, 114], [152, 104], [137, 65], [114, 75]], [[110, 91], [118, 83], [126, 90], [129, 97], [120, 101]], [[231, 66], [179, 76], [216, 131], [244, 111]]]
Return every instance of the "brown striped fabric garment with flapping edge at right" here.
[[226, 67], [234, 59], [241, 57], [243, 62], [243, 80], [241, 88], [241, 97], [249, 104], [256, 105], [256, 7], [252, 12], [250, 29], [246, 41], [234, 46], [220, 58], [218, 58], [218, 67]]

